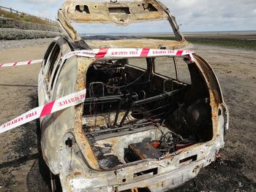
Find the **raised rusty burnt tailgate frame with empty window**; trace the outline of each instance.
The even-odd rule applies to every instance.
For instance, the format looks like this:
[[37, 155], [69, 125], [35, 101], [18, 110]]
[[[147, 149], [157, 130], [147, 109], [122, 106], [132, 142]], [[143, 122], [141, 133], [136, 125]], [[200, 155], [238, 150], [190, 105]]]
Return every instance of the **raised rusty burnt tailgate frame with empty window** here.
[[[73, 41], [80, 41], [81, 37], [72, 27], [71, 23], [115, 23], [120, 26], [127, 26], [130, 23], [149, 21], [149, 20], [168, 20], [177, 42], [174, 41], [158, 41], [162, 45], [176, 45], [184, 47], [187, 40], [178, 30], [176, 18], [170, 15], [170, 11], [164, 4], [157, 0], [135, 0], [135, 1], [75, 1], [67, 0], [59, 8], [58, 17], [60, 25], [67, 32], [67, 35]], [[149, 28], [150, 26], [148, 26]], [[157, 41], [151, 41], [151, 44]], [[169, 43], [168, 43], [169, 42]], [[103, 44], [102, 44], [103, 43]], [[102, 45], [105, 45], [101, 42]], [[111, 43], [111, 42], [108, 42]], [[121, 42], [115, 42], [114, 47], [118, 47]], [[129, 43], [129, 42], [127, 42]], [[135, 40], [133, 45], [139, 42]], [[143, 41], [140, 39], [140, 43]], [[95, 42], [92, 43], [95, 45]], [[109, 45], [109, 44], [108, 44]], [[123, 44], [121, 44], [123, 45]], [[124, 45], [123, 45], [124, 46]], [[137, 47], [129, 45], [130, 47]], [[108, 46], [109, 47], [109, 46]], [[147, 47], [141, 45], [141, 47]], [[170, 47], [167, 47], [170, 48]]]

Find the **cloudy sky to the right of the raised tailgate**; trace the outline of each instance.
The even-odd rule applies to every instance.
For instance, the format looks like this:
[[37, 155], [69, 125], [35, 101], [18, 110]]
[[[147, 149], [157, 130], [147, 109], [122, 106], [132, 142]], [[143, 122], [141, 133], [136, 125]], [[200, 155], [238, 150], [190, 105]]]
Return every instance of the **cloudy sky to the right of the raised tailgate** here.
[[256, 30], [255, 0], [162, 0], [181, 31]]

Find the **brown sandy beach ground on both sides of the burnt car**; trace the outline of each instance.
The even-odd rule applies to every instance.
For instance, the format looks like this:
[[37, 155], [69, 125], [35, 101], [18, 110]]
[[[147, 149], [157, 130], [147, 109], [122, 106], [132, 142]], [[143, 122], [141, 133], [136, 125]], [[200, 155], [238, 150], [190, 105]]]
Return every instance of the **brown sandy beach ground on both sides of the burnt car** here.
[[[47, 45], [1, 50], [0, 61], [42, 58]], [[195, 45], [214, 68], [230, 108], [222, 158], [173, 191], [256, 191], [256, 53]], [[39, 64], [0, 69], [0, 124], [37, 104]], [[36, 123], [0, 134], [0, 191], [48, 191], [39, 174]]]

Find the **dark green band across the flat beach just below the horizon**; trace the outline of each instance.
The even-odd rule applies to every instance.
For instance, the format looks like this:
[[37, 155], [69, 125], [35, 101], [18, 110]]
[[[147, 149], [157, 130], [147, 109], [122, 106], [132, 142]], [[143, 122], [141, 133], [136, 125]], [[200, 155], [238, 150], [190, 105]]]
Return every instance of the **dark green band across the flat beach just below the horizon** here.
[[[146, 37], [149, 39], [166, 39], [173, 40], [172, 37]], [[201, 44], [201, 45], [212, 45], [220, 47], [235, 47], [242, 48], [245, 50], [256, 50], [256, 40], [250, 39], [214, 39], [214, 38], [195, 38], [189, 37], [188, 41], [192, 44]]]

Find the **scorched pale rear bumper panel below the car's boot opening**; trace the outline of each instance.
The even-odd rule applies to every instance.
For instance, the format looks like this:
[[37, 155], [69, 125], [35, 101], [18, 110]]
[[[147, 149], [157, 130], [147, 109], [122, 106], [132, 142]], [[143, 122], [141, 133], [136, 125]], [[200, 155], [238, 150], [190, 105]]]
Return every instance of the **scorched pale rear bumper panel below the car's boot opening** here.
[[[118, 185], [104, 185], [104, 181], [102, 181], [102, 185], [99, 187], [99, 183], [101, 183], [101, 179], [97, 179], [97, 177], [94, 177], [92, 180], [97, 180], [97, 184], [99, 184], [97, 187], [92, 187], [91, 185], [89, 188], [72, 188], [71, 191], [86, 191], [86, 192], [121, 192], [121, 191], [140, 191], [140, 188], [148, 188], [151, 192], [165, 192], [173, 188], [177, 188], [179, 185], [184, 184], [188, 180], [191, 180], [192, 178], [196, 177], [198, 172], [201, 168], [204, 166], [207, 166], [208, 164], [211, 164], [212, 161], [215, 161], [216, 154], [218, 152], [219, 148], [215, 150], [211, 150], [210, 153], [204, 154], [204, 157], [200, 157], [199, 160], [193, 160], [192, 158], [188, 159], [188, 161], [181, 162], [182, 160], [179, 160], [180, 166], [176, 166], [175, 164], [171, 164], [167, 162], [171, 162], [172, 160], [166, 161], [158, 161], [157, 164], [151, 164], [151, 161], [143, 162], [145, 164], [140, 164], [141, 169], [138, 169], [138, 165], [136, 166], [129, 166], [124, 169], [118, 169], [115, 171], [116, 174], [116, 181], [108, 180], [106, 183], [119, 183]], [[178, 156], [178, 155], [177, 155]], [[200, 156], [200, 155], [199, 155]], [[184, 159], [184, 158], [182, 158]], [[148, 165], [148, 166], [147, 166]], [[142, 167], [143, 166], [143, 167]], [[136, 173], [144, 170], [152, 170], [157, 169], [158, 173], [154, 172], [146, 172], [146, 174], [136, 175], [133, 173]], [[137, 170], [137, 171], [136, 171]], [[96, 175], [95, 175], [96, 176]], [[98, 175], [99, 176], [99, 175]], [[102, 176], [102, 174], [101, 174]], [[107, 176], [107, 175], [105, 175]], [[108, 177], [108, 176], [107, 176]], [[123, 178], [123, 179], [122, 179]], [[106, 177], [105, 177], [106, 179]], [[90, 181], [91, 183], [92, 181]], [[122, 182], [123, 184], [120, 184]], [[105, 184], [106, 184], [105, 183]], [[74, 187], [74, 185], [73, 185]], [[70, 189], [70, 188], [69, 188]], [[69, 190], [68, 190], [69, 191]]]

